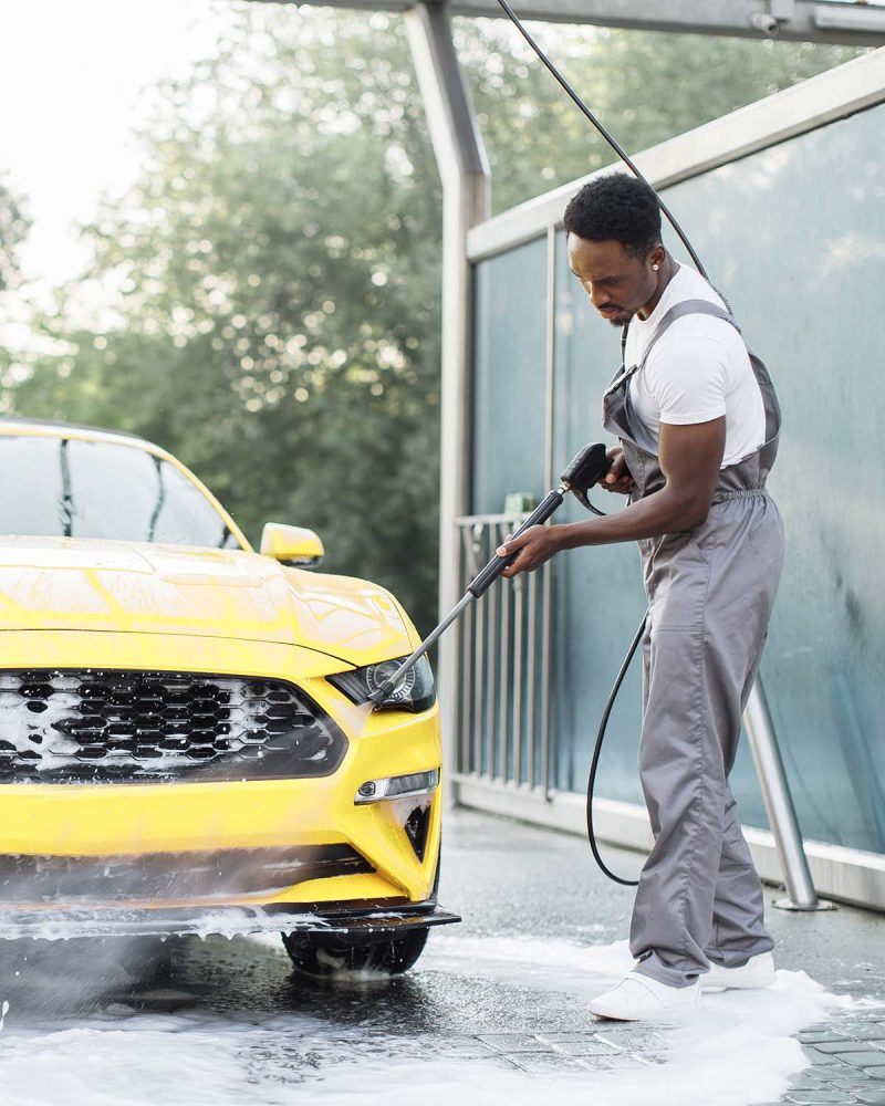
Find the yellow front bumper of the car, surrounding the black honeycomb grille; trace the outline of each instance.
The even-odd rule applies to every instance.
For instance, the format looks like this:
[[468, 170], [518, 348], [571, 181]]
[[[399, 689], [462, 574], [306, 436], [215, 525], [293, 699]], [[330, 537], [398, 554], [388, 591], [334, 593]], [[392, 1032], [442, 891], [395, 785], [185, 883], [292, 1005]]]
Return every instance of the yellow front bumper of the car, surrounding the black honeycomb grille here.
[[[0, 635], [0, 645], [7, 647], [0, 649], [0, 667], [11, 667], [13, 657], [17, 666], [33, 668], [63, 667], [76, 657], [81, 667], [165, 667], [170, 671], [187, 667], [191, 671], [287, 679], [303, 688], [335, 720], [347, 735], [348, 748], [332, 775], [314, 779], [3, 784], [0, 876], [10, 867], [14, 869], [17, 857], [23, 857], [38, 872], [61, 872], [58, 887], [62, 889], [46, 891], [45, 884], [34, 883], [29, 891], [21, 886], [27, 880], [19, 880], [15, 887], [0, 878], [0, 935], [22, 936], [28, 930], [44, 936], [59, 927], [77, 936], [155, 930], [253, 932], [287, 926], [310, 928], [317, 924], [316, 917], [322, 918], [323, 928], [330, 924], [330, 904], [340, 909], [352, 904], [365, 915], [367, 902], [373, 904], [368, 915], [392, 910], [402, 925], [400, 907], [415, 909], [416, 904], [433, 898], [440, 842], [439, 791], [423, 803], [420, 847], [407, 832], [415, 800], [355, 804], [354, 799], [367, 780], [439, 768], [436, 708], [420, 714], [366, 712], [325, 679], [341, 669], [340, 661], [288, 646], [192, 639], [169, 643], [148, 640], [149, 635], [81, 634], [74, 638], [22, 634], [13, 648], [11, 637]], [[350, 849], [361, 863], [345, 874], [313, 878], [302, 873], [298, 880], [228, 884], [219, 878], [208, 893], [202, 888], [199, 895], [194, 894], [192, 880], [175, 878], [179, 857], [183, 868], [189, 865], [194, 869], [206, 857], [214, 863], [214, 857], [223, 856], [227, 864], [231, 854], [247, 862], [261, 854], [270, 858], [270, 870], [274, 854], [291, 859], [298, 849]], [[128, 877], [125, 894], [115, 893], [112, 880], [101, 879], [92, 894], [65, 891], [76, 885], [71, 870], [77, 869], [74, 876], [79, 878], [80, 870], [101, 870], [104, 862], [114, 870], [126, 866], [137, 870], [142, 863], [149, 864], [154, 874], [149, 891], [138, 894]], [[222, 868], [225, 865], [219, 872]], [[167, 869], [170, 878], [166, 883], [160, 879], [158, 886], [156, 873]], [[287, 911], [284, 926], [281, 910]], [[187, 918], [191, 921], [183, 920]], [[173, 924], [187, 928], [169, 928]], [[207, 925], [222, 928], [207, 930]]]

